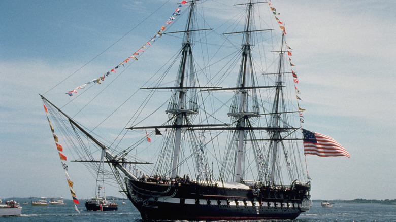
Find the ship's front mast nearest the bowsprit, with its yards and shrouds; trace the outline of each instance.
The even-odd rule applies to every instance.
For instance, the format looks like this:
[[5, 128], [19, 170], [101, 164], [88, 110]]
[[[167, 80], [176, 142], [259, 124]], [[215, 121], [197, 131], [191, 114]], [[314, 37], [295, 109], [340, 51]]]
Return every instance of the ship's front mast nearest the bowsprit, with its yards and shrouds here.
[[[161, 148], [159, 151], [159, 158], [155, 163], [152, 175], [159, 175], [161, 177], [176, 178], [181, 174], [182, 165], [186, 164], [186, 160], [193, 157], [195, 161], [196, 180], [200, 183], [208, 183], [213, 179], [212, 172], [208, 166], [208, 160], [204, 154], [206, 149], [204, 136], [201, 136], [203, 127], [227, 126], [226, 124], [192, 124], [195, 117], [199, 115], [199, 99], [198, 92], [201, 89], [213, 89], [218, 87], [199, 86], [197, 82], [197, 74], [192, 54], [192, 47], [194, 45], [194, 32], [210, 29], [195, 29], [195, 8], [196, 0], [189, 2], [189, 13], [186, 27], [183, 31], [167, 32], [180, 33], [183, 32], [182, 48], [179, 52], [180, 63], [177, 69], [176, 80], [173, 87], [153, 87], [143, 89], [169, 89], [172, 91], [168, 108], [165, 112], [168, 114], [168, 121], [159, 126], [132, 126], [127, 129], [165, 129]], [[172, 65], [171, 65], [172, 66]], [[166, 72], [171, 70], [171, 67]], [[169, 129], [169, 130], [168, 130]], [[196, 133], [199, 132], [199, 133]], [[188, 137], [188, 138], [186, 138]], [[183, 143], [188, 141], [189, 143]], [[190, 155], [182, 159], [181, 154], [185, 155], [186, 147], [190, 147]], [[189, 168], [191, 176], [193, 172]]]

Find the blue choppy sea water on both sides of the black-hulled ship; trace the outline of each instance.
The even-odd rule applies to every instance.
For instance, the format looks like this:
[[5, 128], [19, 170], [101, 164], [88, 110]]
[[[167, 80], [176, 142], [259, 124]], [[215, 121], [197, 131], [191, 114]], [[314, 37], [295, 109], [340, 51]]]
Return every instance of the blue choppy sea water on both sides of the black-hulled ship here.
[[[16, 199], [16, 198], [15, 198]], [[3, 199], [5, 201], [5, 199]], [[92, 212], [85, 211], [84, 201], [80, 201], [78, 208], [80, 214], [74, 209], [72, 200], [64, 200], [63, 206], [31, 206], [31, 199], [16, 199], [21, 206], [21, 216], [3, 216], [1, 222], [25, 221], [136, 221], [141, 222], [141, 217], [136, 208], [126, 200], [118, 203], [118, 211]], [[22, 204], [24, 201], [29, 204]], [[266, 220], [277, 221], [277, 220]], [[284, 221], [284, 220], [280, 220]], [[336, 203], [333, 208], [323, 208], [320, 202], [314, 202], [311, 209], [302, 213], [296, 222], [308, 221], [396, 221], [396, 205], [381, 204], [351, 204]], [[245, 221], [246, 222], [246, 221]]]

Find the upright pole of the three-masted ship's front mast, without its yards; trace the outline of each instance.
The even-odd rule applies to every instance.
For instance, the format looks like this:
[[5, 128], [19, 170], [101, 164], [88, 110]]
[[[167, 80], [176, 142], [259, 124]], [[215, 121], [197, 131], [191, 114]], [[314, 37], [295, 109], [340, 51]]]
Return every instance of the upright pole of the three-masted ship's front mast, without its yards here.
[[[194, 68], [193, 68], [193, 60], [192, 60], [192, 50], [191, 50], [191, 33], [192, 33], [192, 26], [194, 22], [194, 10], [195, 10], [195, 2], [192, 1], [190, 3], [190, 12], [189, 12], [189, 17], [188, 17], [188, 22], [186, 26], [186, 30], [184, 32], [184, 41], [183, 41], [183, 47], [182, 47], [182, 58], [181, 58], [181, 63], [179, 66], [179, 71], [177, 75], [177, 79], [175, 82], [175, 87], [178, 87], [177, 93], [173, 94], [173, 98], [171, 99], [171, 102], [168, 106], [168, 110], [166, 112], [168, 114], [171, 114], [173, 117], [176, 117], [176, 120], [174, 122], [175, 126], [175, 140], [174, 140], [174, 151], [173, 151], [173, 162], [172, 162], [172, 171], [171, 171], [171, 177], [176, 177], [177, 175], [177, 169], [178, 169], [178, 163], [179, 163], [179, 154], [180, 154], [180, 141], [181, 141], [181, 135], [182, 135], [182, 126], [183, 125], [183, 119], [186, 119], [187, 124], [189, 123], [188, 121], [188, 115], [191, 114], [198, 114], [197, 113], [197, 102], [192, 102], [193, 105], [190, 105], [189, 109], [186, 109], [186, 92], [187, 88], [185, 87], [185, 78], [187, 71], [186, 70], [186, 65], [187, 61], [189, 62], [189, 68], [190, 68], [190, 86], [195, 87], [193, 85], [195, 83], [194, 80]], [[194, 91], [194, 90], [192, 90]], [[196, 93], [195, 93], [196, 95]], [[194, 96], [195, 96], [194, 95]], [[191, 104], [191, 102], [190, 102]]]

